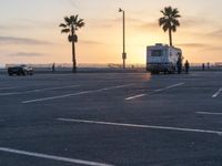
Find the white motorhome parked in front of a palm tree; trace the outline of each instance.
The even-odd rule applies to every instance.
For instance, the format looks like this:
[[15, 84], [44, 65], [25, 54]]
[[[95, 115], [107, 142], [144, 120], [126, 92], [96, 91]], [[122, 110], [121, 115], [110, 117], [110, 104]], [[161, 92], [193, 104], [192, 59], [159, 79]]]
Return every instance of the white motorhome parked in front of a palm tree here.
[[147, 46], [147, 71], [152, 74], [174, 73], [176, 71], [176, 62], [182, 56], [181, 49], [157, 43]]

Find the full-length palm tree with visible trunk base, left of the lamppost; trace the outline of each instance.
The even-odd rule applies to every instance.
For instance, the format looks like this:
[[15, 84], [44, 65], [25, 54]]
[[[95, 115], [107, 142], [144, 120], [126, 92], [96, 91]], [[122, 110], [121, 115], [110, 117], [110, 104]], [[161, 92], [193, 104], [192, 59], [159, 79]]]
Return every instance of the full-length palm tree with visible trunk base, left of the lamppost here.
[[82, 27], [84, 27], [84, 20], [79, 19], [79, 15], [70, 15], [64, 17], [64, 23], [60, 23], [62, 28], [61, 33], [70, 33], [68, 35], [69, 42], [72, 43], [72, 72], [77, 72], [77, 60], [75, 60], [75, 48], [74, 43], [78, 42], [78, 35], [75, 34], [75, 31]]

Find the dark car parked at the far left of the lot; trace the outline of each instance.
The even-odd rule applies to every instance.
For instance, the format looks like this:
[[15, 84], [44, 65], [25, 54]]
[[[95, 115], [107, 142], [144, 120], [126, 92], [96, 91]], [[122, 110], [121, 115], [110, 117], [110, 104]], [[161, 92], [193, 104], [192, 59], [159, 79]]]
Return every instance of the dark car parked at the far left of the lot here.
[[33, 69], [28, 65], [18, 65], [18, 66], [10, 66], [8, 68], [8, 74], [9, 75], [32, 75], [33, 74]]

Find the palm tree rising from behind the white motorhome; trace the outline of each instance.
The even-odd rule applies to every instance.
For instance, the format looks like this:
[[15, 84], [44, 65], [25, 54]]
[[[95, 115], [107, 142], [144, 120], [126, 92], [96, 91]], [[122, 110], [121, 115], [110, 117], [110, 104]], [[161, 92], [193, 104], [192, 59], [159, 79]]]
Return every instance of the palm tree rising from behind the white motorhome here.
[[163, 17], [159, 19], [160, 27], [163, 27], [163, 31], [169, 31], [170, 45], [172, 46], [172, 31], [176, 31], [176, 27], [180, 27], [178, 18], [181, 18], [179, 14], [178, 8], [172, 9], [172, 7], [165, 7], [164, 10], [160, 11]]

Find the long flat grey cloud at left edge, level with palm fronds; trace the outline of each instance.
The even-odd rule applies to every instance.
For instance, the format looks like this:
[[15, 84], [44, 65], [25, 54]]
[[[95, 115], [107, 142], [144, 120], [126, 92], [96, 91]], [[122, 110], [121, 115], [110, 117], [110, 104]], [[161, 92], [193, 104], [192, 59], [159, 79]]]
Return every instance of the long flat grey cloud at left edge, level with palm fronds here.
[[40, 45], [40, 44], [52, 44], [47, 41], [40, 41], [28, 38], [14, 38], [14, 37], [0, 37], [0, 44], [28, 44], [28, 45]]

